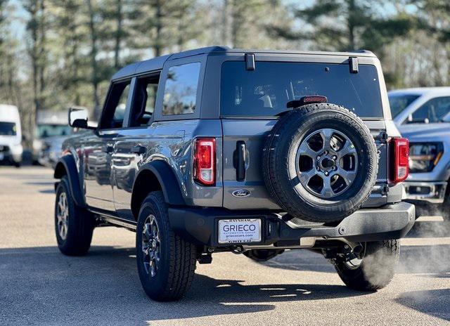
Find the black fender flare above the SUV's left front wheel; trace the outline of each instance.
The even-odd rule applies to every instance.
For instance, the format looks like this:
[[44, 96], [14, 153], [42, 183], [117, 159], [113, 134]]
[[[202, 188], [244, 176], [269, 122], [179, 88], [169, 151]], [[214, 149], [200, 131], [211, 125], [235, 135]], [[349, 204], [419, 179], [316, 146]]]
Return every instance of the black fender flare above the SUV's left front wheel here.
[[79, 207], [86, 207], [86, 201], [82, 195], [81, 184], [79, 183], [77, 164], [75, 164], [75, 159], [72, 155], [64, 155], [63, 157], [60, 157], [58, 163], [56, 164], [53, 177], [60, 179], [64, 175], [68, 176], [70, 194], [72, 195], [75, 204]]

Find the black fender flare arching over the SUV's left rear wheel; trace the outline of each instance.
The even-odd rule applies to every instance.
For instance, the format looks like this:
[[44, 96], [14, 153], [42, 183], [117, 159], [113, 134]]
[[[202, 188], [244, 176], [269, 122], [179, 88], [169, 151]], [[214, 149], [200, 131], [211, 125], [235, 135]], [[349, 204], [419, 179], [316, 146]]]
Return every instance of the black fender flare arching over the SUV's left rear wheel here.
[[[167, 204], [185, 204], [183, 195], [181, 195], [180, 185], [176, 180], [174, 171], [169, 166], [169, 164], [167, 164], [167, 162], [163, 161], [162, 159], [156, 159], [152, 162], [144, 164], [141, 169], [139, 169], [136, 178], [134, 178], [133, 195], [131, 198], [134, 197], [136, 181], [139, 180], [139, 176], [141, 176], [142, 173], [145, 173], [144, 171], [150, 171], [158, 179], [162, 193], [164, 195], [164, 199]], [[131, 202], [132, 201], [133, 199], [131, 199]]]

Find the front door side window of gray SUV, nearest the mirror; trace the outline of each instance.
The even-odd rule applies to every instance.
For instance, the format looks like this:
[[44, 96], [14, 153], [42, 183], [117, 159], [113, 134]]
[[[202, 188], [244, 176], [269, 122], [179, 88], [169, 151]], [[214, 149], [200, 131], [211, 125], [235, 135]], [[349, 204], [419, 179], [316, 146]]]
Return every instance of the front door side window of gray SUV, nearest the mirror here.
[[100, 129], [122, 128], [127, 109], [127, 99], [130, 81], [115, 83], [103, 108]]

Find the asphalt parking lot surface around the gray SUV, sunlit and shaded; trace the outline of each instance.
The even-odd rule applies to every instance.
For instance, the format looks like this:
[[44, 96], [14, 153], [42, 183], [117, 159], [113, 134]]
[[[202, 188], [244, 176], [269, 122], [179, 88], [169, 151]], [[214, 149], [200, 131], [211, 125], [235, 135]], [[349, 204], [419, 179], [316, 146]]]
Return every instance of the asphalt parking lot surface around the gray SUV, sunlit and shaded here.
[[[84, 257], [58, 252], [52, 171], [0, 167], [0, 325], [450, 325], [450, 228], [425, 221], [402, 242], [392, 284], [347, 289], [322, 256], [266, 263], [216, 254], [186, 298], [150, 301], [134, 233], [97, 228]], [[447, 232], [449, 231], [449, 232]]]

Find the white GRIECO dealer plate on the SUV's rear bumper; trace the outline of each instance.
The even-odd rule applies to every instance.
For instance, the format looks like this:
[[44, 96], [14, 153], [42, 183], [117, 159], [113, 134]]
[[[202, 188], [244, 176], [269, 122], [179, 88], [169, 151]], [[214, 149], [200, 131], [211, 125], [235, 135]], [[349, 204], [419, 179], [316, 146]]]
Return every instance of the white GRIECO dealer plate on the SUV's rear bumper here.
[[219, 243], [261, 241], [261, 219], [219, 220]]

